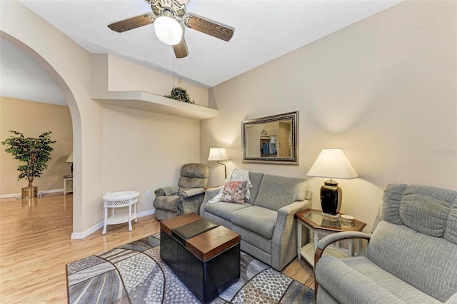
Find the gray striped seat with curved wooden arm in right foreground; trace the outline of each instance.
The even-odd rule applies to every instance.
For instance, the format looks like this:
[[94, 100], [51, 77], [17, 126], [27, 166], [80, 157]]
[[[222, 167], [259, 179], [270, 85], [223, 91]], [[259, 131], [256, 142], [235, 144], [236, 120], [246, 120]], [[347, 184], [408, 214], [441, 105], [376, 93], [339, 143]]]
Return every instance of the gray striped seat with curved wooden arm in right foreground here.
[[[457, 191], [386, 187], [371, 237], [335, 233], [318, 243], [317, 303], [457, 303]], [[363, 254], [322, 256], [336, 240], [368, 238]]]

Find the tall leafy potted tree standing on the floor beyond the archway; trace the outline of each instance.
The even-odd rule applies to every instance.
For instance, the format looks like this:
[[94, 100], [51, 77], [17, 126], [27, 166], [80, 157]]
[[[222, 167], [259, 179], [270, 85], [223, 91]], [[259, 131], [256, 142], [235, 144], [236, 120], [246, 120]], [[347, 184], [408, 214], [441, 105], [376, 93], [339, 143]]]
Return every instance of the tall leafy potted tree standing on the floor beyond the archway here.
[[11, 153], [14, 159], [26, 163], [17, 167], [19, 171], [19, 181], [21, 178], [27, 178], [29, 186], [22, 188], [21, 198], [35, 197], [38, 193], [38, 187], [33, 186], [34, 178], [40, 177], [43, 171], [48, 167], [47, 162], [51, 159], [52, 143], [51, 131], [44, 132], [38, 138], [25, 138], [24, 134], [17, 131], [9, 131], [16, 136], [10, 136], [2, 141], [1, 144], [7, 146], [5, 151]]

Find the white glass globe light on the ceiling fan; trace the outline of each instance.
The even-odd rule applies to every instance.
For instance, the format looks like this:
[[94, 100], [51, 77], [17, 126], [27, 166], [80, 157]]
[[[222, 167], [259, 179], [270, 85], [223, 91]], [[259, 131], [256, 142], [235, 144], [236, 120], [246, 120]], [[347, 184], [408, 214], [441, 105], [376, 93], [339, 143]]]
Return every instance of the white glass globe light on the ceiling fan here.
[[162, 16], [154, 21], [154, 29], [157, 38], [164, 44], [174, 46], [181, 42], [183, 36], [183, 28], [178, 21], [176, 21], [169, 11], [165, 11]]

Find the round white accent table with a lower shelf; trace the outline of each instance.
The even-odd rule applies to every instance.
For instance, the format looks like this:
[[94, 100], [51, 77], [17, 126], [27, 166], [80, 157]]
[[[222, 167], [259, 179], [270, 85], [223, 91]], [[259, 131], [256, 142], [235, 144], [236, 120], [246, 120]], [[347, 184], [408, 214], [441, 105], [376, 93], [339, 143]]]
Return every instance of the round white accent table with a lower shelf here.
[[[129, 223], [129, 231], [131, 228], [131, 221], [138, 221], [136, 218], [136, 203], [140, 193], [138, 191], [120, 191], [105, 194], [103, 196], [105, 208], [105, 223], [101, 234], [106, 234], [107, 225], [116, 225], [121, 223]], [[134, 206], [134, 212], [131, 212], [131, 206]], [[115, 214], [114, 208], [129, 207], [129, 213]], [[111, 216], [108, 217], [108, 208], [111, 208]]]

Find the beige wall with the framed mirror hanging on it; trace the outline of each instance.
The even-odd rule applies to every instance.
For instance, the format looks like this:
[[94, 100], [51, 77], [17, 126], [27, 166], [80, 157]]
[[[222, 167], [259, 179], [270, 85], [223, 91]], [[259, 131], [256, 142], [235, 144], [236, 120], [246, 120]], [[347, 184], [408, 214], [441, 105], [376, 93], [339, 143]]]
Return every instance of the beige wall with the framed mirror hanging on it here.
[[[369, 229], [388, 183], [457, 189], [456, 1], [405, 1], [210, 90], [201, 159], [227, 148], [228, 171], [305, 177], [340, 147], [360, 178], [339, 180], [341, 211]], [[299, 111], [299, 166], [242, 163], [241, 121]], [[223, 167], [211, 169], [211, 185]], [[324, 178], [309, 178], [320, 208]]]

